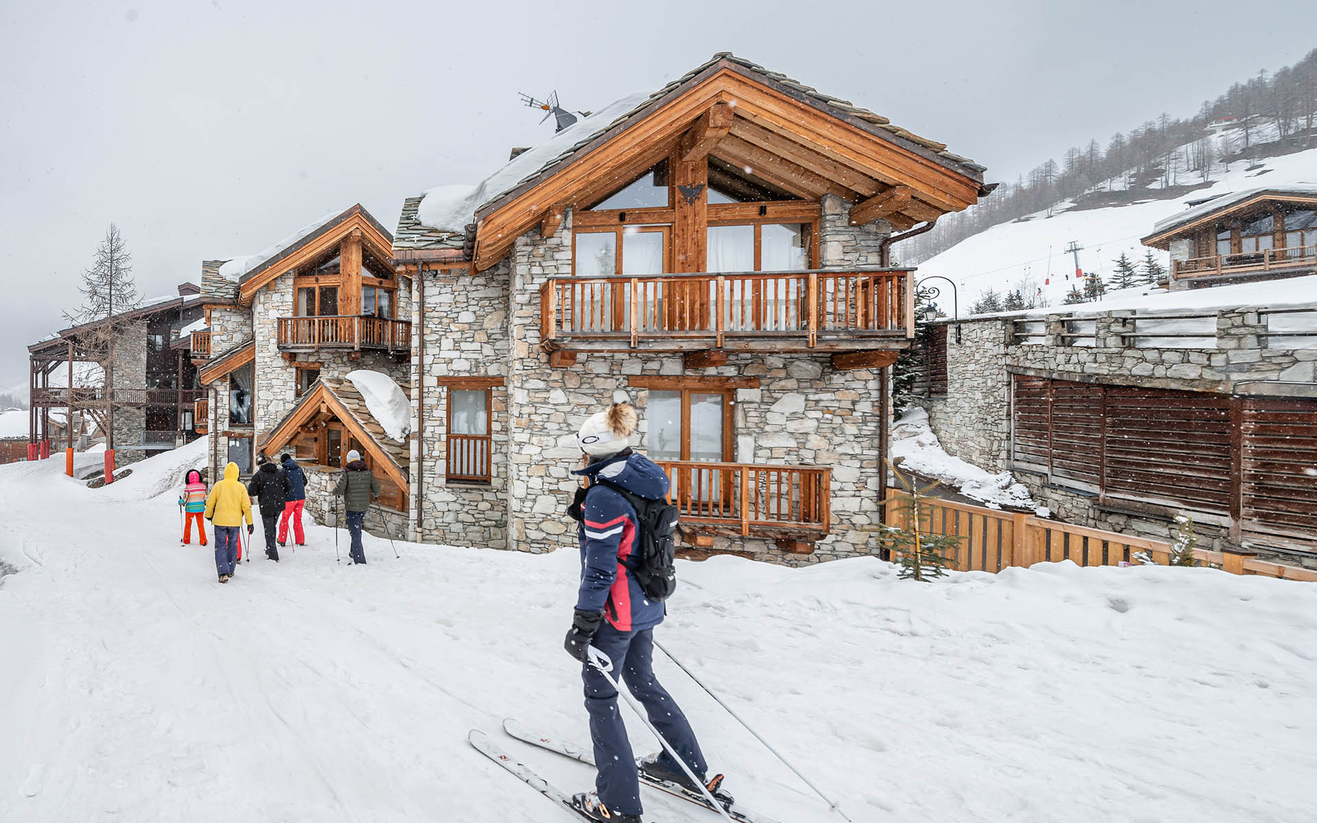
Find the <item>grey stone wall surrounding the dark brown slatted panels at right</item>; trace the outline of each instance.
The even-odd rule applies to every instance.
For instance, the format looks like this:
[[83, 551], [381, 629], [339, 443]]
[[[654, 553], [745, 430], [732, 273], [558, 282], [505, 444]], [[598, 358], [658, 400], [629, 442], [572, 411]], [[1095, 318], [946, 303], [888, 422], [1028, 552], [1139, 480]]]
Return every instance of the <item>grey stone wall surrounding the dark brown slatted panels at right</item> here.
[[[1092, 491], [1011, 465], [1011, 374], [1227, 395], [1317, 398], [1317, 349], [1270, 348], [1262, 308], [1217, 311], [1216, 333], [1202, 341], [1214, 346], [1196, 349], [1125, 345], [1135, 336], [1138, 323], [1156, 321], [1156, 316], [1102, 312], [1085, 317], [1094, 321], [1094, 345], [1065, 345], [1065, 321], [1073, 317], [1062, 313], [1047, 316], [1040, 345], [1014, 345], [1010, 319], [961, 321], [963, 342], [956, 344], [951, 334], [947, 340], [947, 396], [919, 399], [947, 452], [989, 471], [1010, 469], [1060, 520], [1159, 540], [1175, 531], [1169, 516], [1101, 504]], [[1202, 548], [1229, 544], [1227, 531], [1210, 518], [1196, 519], [1195, 525]]]

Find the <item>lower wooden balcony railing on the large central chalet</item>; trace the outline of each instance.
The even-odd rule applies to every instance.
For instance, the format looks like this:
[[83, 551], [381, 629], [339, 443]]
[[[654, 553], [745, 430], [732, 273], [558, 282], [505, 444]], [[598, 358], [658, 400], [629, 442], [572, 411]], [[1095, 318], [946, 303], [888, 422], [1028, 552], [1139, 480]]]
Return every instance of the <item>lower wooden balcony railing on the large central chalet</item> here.
[[656, 461], [682, 523], [730, 527], [741, 536], [826, 535], [832, 470], [813, 466]]

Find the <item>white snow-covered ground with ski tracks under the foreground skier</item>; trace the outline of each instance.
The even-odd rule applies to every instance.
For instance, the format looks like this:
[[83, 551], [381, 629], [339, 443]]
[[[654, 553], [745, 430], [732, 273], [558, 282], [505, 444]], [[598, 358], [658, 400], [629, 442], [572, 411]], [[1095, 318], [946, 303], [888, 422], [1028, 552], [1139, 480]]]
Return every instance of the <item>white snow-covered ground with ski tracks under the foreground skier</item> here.
[[[0, 466], [0, 560], [20, 568], [0, 578], [0, 819], [566, 823], [465, 736], [516, 715], [586, 737], [561, 649], [573, 552], [395, 560], [369, 540], [350, 568], [317, 527], [220, 586], [176, 537], [173, 477], [202, 444], [95, 491], [58, 460]], [[680, 574], [661, 639], [856, 820], [1312, 819], [1317, 586], [1071, 564], [918, 585], [877, 560]], [[658, 670], [730, 791], [840, 819]]]

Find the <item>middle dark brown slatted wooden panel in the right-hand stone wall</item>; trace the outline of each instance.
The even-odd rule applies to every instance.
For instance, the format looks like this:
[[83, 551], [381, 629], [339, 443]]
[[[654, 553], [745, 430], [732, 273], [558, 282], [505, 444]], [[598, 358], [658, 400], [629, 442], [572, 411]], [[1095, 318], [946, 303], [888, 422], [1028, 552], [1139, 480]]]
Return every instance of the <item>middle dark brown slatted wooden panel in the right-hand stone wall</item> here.
[[1109, 492], [1230, 514], [1230, 398], [1106, 387]]

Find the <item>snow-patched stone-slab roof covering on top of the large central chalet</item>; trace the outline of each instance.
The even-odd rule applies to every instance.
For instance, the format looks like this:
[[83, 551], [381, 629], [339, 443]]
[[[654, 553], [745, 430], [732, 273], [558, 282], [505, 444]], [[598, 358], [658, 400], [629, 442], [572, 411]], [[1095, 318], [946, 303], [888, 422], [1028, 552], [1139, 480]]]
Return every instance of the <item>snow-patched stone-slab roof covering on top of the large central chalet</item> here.
[[[943, 144], [919, 137], [893, 125], [881, 115], [859, 108], [847, 100], [823, 95], [786, 75], [769, 71], [730, 53], [720, 53], [651, 95], [628, 95], [582, 117], [539, 146], [522, 151], [477, 184], [440, 186], [427, 190], [419, 198], [408, 198], [403, 203], [398, 223], [395, 257], [403, 257], [398, 254], [399, 252], [420, 257], [417, 253], [421, 250], [450, 253], [462, 249], [470, 258], [473, 246], [470, 228], [474, 224], [490, 217], [549, 176], [570, 167], [586, 153], [607, 144], [681, 93], [723, 71], [740, 75], [760, 87], [786, 95], [823, 115], [844, 121], [871, 137], [919, 155], [944, 174], [950, 173], [972, 184], [973, 194], [964, 204], [943, 211], [964, 208], [973, 201], [973, 196], [984, 196], [994, 188], [982, 182], [984, 166], [947, 151]], [[500, 240], [510, 242], [506, 237]]]

